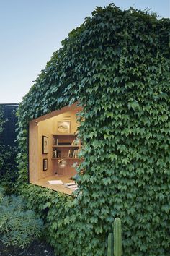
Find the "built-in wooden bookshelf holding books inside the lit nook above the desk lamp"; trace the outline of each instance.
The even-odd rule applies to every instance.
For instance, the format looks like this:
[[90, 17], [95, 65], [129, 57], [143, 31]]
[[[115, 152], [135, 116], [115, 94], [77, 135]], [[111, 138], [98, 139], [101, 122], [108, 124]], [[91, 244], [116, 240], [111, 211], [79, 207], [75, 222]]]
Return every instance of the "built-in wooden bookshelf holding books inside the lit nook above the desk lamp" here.
[[53, 135], [53, 157], [52, 159], [79, 160], [81, 140], [76, 134]]

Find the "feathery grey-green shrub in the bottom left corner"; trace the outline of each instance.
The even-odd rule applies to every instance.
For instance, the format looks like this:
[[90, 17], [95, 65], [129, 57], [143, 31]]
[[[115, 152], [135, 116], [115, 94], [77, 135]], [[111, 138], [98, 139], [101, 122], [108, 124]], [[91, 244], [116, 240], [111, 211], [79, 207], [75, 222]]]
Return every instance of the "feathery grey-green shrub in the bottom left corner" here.
[[40, 237], [43, 223], [33, 210], [26, 210], [22, 197], [5, 196], [0, 202], [0, 213], [0, 237], [6, 246], [24, 248]]

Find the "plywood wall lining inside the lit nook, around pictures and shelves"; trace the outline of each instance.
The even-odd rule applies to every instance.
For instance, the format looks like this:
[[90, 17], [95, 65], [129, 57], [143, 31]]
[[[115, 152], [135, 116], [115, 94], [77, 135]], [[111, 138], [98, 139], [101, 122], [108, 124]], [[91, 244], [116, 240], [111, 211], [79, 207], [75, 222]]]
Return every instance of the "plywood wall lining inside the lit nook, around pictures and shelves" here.
[[[58, 174], [75, 174], [71, 165], [73, 160], [69, 162], [66, 168], [58, 169], [58, 161], [52, 160], [53, 157], [53, 134], [57, 133], [58, 121], [71, 121], [71, 131], [73, 134], [77, 131], [78, 123], [76, 121], [76, 113], [79, 109], [74, 108], [63, 114], [53, 116], [44, 121], [30, 121], [30, 182], [37, 182], [39, 179], [52, 176], [56, 172]], [[53, 112], [52, 112], [53, 113]], [[42, 154], [42, 136], [48, 137], [48, 154]], [[48, 159], [48, 170], [43, 171], [43, 159]]]

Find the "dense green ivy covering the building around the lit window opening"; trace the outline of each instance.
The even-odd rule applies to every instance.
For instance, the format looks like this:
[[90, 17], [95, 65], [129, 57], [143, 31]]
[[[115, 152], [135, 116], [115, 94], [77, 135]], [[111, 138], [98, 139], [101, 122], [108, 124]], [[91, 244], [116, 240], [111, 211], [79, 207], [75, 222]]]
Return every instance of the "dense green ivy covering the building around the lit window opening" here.
[[[169, 253], [169, 24], [98, 7], [63, 40], [19, 106], [18, 185], [59, 255], [104, 255], [115, 216], [123, 255]], [[27, 184], [27, 125], [75, 101], [84, 106], [84, 162], [71, 198]]]

